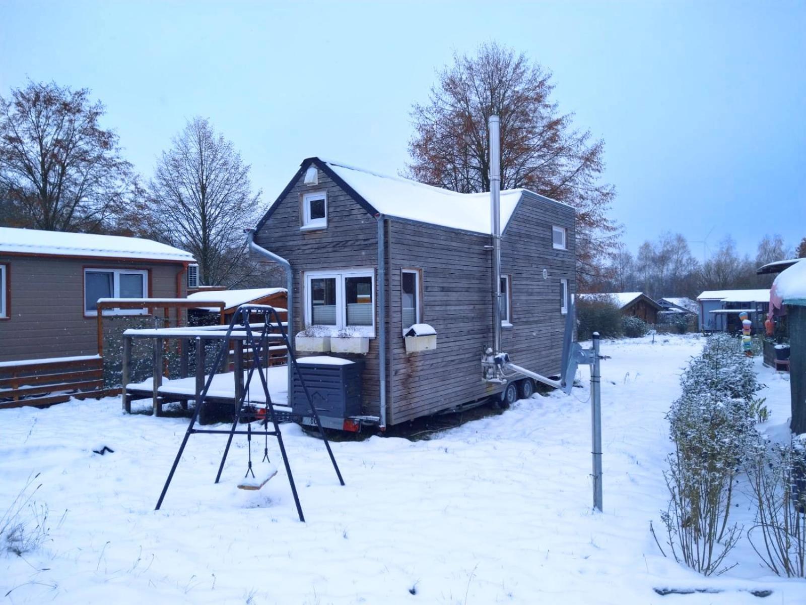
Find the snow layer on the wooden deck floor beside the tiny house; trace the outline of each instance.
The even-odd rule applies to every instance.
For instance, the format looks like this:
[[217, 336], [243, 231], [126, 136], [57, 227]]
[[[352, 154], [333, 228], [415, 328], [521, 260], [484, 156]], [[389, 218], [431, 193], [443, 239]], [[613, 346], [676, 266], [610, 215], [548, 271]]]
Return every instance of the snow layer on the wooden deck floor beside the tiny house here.
[[[299, 361], [299, 360], [297, 360]], [[243, 372], [243, 383], [246, 384], [247, 371]], [[154, 390], [153, 378], [147, 378], [143, 382], [131, 382], [127, 389]], [[207, 377], [205, 377], [205, 381]], [[289, 402], [288, 373], [285, 365], [276, 365], [266, 370], [266, 382], [268, 384], [268, 394], [272, 396], [272, 403], [277, 406], [287, 406]], [[193, 395], [196, 394], [196, 378], [177, 378], [168, 380], [163, 378], [162, 385], [158, 389], [162, 394]], [[210, 383], [210, 390], [207, 391], [210, 397], [235, 398], [235, 372], [226, 372], [213, 375], [213, 382]], [[255, 370], [249, 383], [249, 398], [252, 403], [266, 403], [266, 394], [260, 375]]]

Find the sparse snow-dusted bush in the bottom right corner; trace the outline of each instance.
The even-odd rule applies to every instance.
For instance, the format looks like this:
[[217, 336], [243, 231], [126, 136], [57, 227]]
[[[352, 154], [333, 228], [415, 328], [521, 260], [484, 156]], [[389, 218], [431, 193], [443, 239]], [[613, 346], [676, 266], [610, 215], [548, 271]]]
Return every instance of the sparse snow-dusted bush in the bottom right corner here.
[[761, 438], [747, 461], [756, 524], [747, 532], [753, 549], [779, 576], [806, 578], [806, 435], [788, 444]]

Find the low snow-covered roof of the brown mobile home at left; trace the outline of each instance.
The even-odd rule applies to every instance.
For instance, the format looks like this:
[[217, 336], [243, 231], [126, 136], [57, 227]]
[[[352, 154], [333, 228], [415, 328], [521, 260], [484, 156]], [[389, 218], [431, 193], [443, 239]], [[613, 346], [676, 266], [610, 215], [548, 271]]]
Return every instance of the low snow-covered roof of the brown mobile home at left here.
[[98, 236], [0, 227], [0, 254], [18, 252], [37, 256], [123, 257], [152, 261], [193, 262], [193, 255], [179, 248], [139, 237]]

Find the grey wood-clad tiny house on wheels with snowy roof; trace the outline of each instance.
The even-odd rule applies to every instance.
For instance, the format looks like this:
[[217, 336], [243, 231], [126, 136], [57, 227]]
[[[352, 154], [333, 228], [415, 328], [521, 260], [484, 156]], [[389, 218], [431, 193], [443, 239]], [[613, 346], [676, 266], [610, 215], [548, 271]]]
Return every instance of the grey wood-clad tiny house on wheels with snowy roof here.
[[[501, 191], [493, 286], [490, 200], [310, 157], [250, 235], [253, 250], [292, 277], [290, 332], [318, 340], [317, 353], [362, 360], [363, 415], [381, 426], [491, 395], [511, 399], [516, 386], [531, 394], [530, 378], [485, 379], [494, 300], [501, 350], [521, 368], [560, 373], [575, 211], [528, 190]], [[351, 339], [355, 346], [341, 342]], [[364, 354], [333, 353], [328, 341]], [[297, 355], [314, 350], [303, 343]]]

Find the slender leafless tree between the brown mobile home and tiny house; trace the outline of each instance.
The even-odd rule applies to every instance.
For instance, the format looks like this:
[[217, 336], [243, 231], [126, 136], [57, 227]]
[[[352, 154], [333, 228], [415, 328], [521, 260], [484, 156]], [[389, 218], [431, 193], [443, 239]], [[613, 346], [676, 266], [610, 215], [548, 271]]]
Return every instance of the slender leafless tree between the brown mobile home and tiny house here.
[[[190, 120], [163, 152], [151, 182], [152, 209], [171, 244], [193, 253], [202, 282], [239, 286], [246, 275], [243, 229], [260, 212], [249, 165], [207, 119]], [[248, 272], [247, 272], [248, 273]]]

